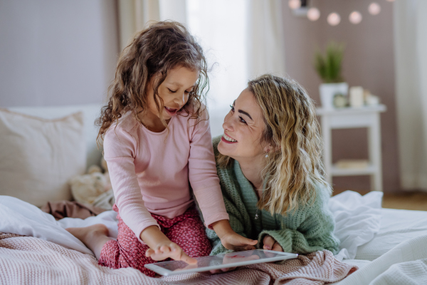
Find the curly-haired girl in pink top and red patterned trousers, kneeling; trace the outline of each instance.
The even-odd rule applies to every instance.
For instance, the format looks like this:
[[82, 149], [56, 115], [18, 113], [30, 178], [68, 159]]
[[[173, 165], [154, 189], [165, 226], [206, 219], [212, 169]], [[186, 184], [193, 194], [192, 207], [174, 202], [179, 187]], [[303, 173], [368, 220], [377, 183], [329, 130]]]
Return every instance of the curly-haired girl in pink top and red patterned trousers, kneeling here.
[[117, 241], [102, 224], [68, 229], [111, 268], [172, 258], [195, 263], [211, 244], [191, 199], [227, 249], [257, 242], [233, 232], [216, 174], [206, 108], [206, 59], [186, 28], [149, 26], [122, 52], [98, 123], [118, 213]]

